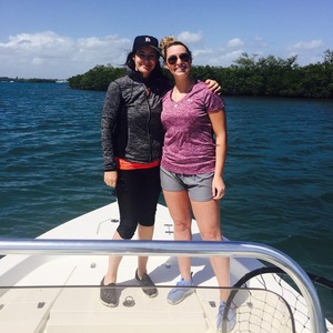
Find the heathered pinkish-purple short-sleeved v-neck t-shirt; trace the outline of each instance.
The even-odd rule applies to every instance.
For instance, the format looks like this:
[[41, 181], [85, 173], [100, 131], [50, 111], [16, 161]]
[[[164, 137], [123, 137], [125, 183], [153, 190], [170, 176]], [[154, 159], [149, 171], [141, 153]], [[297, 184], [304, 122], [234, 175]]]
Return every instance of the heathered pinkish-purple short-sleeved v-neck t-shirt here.
[[161, 165], [174, 173], [199, 174], [214, 172], [215, 142], [209, 112], [221, 110], [221, 97], [196, 82], [179, 102], [163, 97], [162, 124], [165, 130]]

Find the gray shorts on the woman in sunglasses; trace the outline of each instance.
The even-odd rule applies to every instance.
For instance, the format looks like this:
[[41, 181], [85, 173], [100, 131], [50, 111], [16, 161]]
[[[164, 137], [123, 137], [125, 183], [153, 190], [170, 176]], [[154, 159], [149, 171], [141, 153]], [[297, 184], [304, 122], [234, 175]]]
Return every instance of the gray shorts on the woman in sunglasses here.
[[201, 174], [179, 174], [160, 168], [161, 185], [164, 191], [180, 192], [188, 191], [189, 196], [193, 201], [211, 201], [213, 172]]

